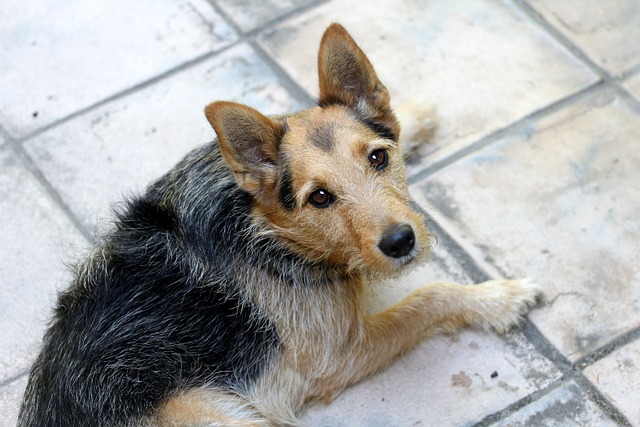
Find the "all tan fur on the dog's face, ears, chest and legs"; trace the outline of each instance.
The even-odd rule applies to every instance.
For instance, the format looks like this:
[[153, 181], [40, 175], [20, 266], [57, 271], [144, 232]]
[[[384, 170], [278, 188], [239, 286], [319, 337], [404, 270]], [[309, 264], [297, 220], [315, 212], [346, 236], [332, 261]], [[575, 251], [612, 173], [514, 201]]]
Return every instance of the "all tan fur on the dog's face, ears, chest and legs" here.
[[[409, 224], [415, 231], [411, 265], [429, 253], [430, 233], [410, 206], [402, 148], [363, 123], [370, 120], [400, 135], [388, 91], [371, 63], [346, 30], [333, 24], [322, 39], [318, 64], [322, 107], [268, 118], [246, 106], [215, 102], [206, 116], [238, 185], [254, 196], [254, 231], [278, 236], [306, 259], [333, 265], [335, 283], [294, 288], [243, 272], [244, 296], [275, 325], [282, 352], [249, 390], [186, 390], [167, 400], [158, 413], [161, 425], [294, 425], [305, 403], [332, 401], [425, 336], [464, 326], [504, 332], [540, 295], [530, 281], [436, 283], [366, 315], [370, 281], [405, 272], [406, 262], [378, 248], [385, 230]], [[411, 138], [433, 133], [427, 115], [411, 114], [425, 126], [414, 127]], [[388, 152], [383, 171], [369, 164], [376, 149]], [[281, 164], [288, 167], [294, 209], [279, 198]], [[318, 188], [329, 189], [338, 201], [326, 209], [312, 206], [308, 198]]]

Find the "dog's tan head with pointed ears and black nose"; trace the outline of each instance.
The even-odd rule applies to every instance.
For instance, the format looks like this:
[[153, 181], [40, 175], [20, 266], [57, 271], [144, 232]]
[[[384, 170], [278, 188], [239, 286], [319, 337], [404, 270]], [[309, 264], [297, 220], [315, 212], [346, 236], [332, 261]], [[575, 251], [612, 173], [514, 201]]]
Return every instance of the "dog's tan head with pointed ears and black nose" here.
[[205, 114], [254, 216], [296, 253], [347, 270], [392, 274], [427, 254], [411, 208], [389, 93], [347, 31], [327, 28], [318, 106], [268, 118], [232, 102]]

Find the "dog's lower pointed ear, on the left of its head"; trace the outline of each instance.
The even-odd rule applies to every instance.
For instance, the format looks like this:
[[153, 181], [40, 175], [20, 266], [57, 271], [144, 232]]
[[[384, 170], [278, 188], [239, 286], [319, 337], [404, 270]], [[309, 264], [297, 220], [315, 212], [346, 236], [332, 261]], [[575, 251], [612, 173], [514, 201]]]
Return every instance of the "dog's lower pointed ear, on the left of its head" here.
[[213, 102], [205, 108], [218, 135], [220, 151], [238, 185], [257, 195], [276, 177], [276, 162], [284, 125], [235, 102]]

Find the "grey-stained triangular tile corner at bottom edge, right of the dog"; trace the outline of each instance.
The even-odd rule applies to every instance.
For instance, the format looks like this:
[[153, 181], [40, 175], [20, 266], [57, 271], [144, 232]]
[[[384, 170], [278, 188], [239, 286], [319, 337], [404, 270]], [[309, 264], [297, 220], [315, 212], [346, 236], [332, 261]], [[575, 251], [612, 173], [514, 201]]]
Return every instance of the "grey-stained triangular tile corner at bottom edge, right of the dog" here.
[[570, 381], [492, 425], [496, 427], [615, 427], [618, 424], [589, 400], [578, 384]]

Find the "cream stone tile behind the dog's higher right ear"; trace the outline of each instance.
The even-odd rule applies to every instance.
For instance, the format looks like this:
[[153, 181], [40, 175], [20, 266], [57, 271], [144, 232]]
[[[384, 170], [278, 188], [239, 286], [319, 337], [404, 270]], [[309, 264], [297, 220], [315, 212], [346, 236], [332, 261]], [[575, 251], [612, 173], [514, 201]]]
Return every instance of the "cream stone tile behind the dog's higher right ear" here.
[[439, 130], [421, 149], [429, 162], [597, 80], [511, 1], [374, 0], [363, 8], [335, 0], [259, 38], [313, 95], [317, 46], [332, 21], [367, 53], [394, 105], [437, 107]]

